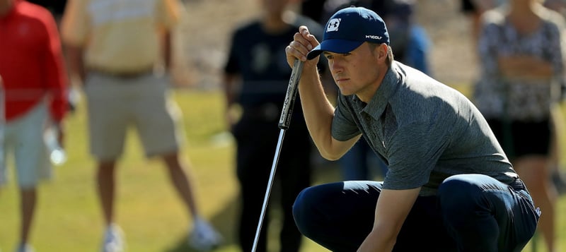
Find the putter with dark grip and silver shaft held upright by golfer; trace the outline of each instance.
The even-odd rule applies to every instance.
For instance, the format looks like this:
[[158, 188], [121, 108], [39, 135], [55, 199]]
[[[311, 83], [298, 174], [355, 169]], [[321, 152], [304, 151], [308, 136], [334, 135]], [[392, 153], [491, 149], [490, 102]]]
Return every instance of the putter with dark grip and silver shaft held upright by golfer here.
[[277, 140], [277, 148], [275, 149], [275, 157], [273, 157], [273, 164], [271, 166], [270, 180], [267, 182], [267, 189], [265, 190], [265, 198], [263, 198], [263, 205], [261, 209], [260, 221], [258, 223], [258, 229], [255, 231], [255, 239], [253, 239], [252, 252], [258, 246], [258, 240], [260, 239], [260, 231], [263, 224], [263, 219], [265, 217], [265, 211], [267, 210], [267, 201], [269, 201], [271, 188], [273, 185], [273, 179], [275, 178], [275, 170], [277, 169], [277, 162], [279, 161], [279, 154], [281, 153], [281, 146], [283, 144], [283, 138], [285, 136], [285, 131], [289, 128], [291, 123], [291, 115], [293, 114], [293, 107], [296, 100], [296, 93], [299, 87], [299, 79], [301, 78], [301, 72], [303, 71], [303, 61], [295, 59], [293, 71], [291, 71], [291, 78], [289, 78], [289, 86], [287, 87], [287, 95], [285, 95], [285, 100], [283, 102], [283, 109], [281, 111], [281, 117], [279, 118], [279, 140]]

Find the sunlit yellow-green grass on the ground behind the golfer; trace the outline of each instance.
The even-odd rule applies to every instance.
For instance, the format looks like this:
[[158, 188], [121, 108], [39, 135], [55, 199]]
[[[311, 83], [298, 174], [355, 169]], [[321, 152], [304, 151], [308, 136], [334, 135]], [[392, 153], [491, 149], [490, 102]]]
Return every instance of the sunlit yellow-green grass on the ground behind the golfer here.
[[[185, 116], [187, 143], [183, 159], [191, 165], [197, 200], [203, 215], [212, 220], [226, 237], [219, 252], [239, 251], [235, 244], [238, 187], [233, 172], [233, 142], [220, 138], [224, 132], [224, 102], [221, 92], [179, 90], [175, 93]], [[82, 105], [83, 103], [81, 103]], [[69, 160], [55, 167], [56, 177], [40, 186], [37, 215], [31, 242], [37, 252], [95, 252], [103, 232], [103, 220], [96, 198], [95, 163], [88, 155], [84, 107], [69, 116], [66, 147]], [[117, 222], [124, 229], [130, 252], [190, 251], [185, 244], [190, 219], [187, 210], [168, 183], [159, 160], [146, 160], [134, 132], [129, 134], [117, 179]], [[19, 196], [13, 183], [0, 191], [0, 250], [13, 251], [19, 234]], [[339, 179], [334, 168], [317, 169], [316, 184]], [[566, 212], [564, 197], [557, 212]], [[256, 225], [255, 223], [251, 223]], [[274, 221], [270, 228], [279, 225]], [[566, 237], [566, 222], [559, 216], [560, 237]], [[277, 234], [271, 234], [276, 246]], [[560, 239], [559, 239], [560, 243]], [[560, 244], [558, 251], [566, 251]], [[544, 252], [543, 243], [538, 242]], [[275, 249], [272, 249], [275, 251]], [[305, 239], [302, 251], [326, 251]], [[525, 251], [531, 251], [530, 248]]]

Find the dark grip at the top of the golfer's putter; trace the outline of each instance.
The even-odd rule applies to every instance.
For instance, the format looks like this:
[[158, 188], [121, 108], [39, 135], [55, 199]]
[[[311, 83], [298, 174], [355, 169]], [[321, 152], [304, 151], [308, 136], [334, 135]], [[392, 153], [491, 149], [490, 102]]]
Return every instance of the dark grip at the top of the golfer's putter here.
[[293, 114], [293, 106], [295, 104], [296, 92], [299, 88], [299, 79], [303, 71], [303, 61], [295, 59], [291, 78], [289, 78], [289, 86], [287, 86], [287, 95], [283, 102], [281, 117], [279, 117], [279, 128], [287, 130], [291, 124], [291, 115]]

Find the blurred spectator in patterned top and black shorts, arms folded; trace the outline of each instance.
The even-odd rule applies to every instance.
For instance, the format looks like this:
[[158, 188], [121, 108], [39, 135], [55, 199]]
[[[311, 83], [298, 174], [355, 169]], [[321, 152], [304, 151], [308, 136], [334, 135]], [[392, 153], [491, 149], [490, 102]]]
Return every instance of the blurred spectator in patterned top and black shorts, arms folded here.
[[475, 102], [543, 214], [548, 251], [555, 246], [555, 202], [548, 164], [552, 107], [564, 81], [565, 20], [538, 0], [512, 0], [487, 11], [478, 40], [481, 78]]

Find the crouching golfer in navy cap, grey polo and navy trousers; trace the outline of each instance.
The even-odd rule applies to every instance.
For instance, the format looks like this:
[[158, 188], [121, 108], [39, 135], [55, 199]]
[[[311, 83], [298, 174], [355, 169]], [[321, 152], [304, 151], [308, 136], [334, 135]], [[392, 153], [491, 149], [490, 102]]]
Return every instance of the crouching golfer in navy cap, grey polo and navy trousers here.
[[[301, 26], [287, 61], [304, 61], [299, 94], [320, 154], [361, 137], [388, 164], [383, 182], [312, 186], [294, 204], [302, 234], [330, 251], [521, 251], [539, 211], [482, 114], [460, 92], [393, 60], [386, 25], [348, 7], [319, 44]], [[316, 69], [328, 59], [336, 107]]]

